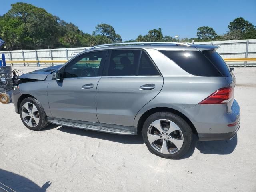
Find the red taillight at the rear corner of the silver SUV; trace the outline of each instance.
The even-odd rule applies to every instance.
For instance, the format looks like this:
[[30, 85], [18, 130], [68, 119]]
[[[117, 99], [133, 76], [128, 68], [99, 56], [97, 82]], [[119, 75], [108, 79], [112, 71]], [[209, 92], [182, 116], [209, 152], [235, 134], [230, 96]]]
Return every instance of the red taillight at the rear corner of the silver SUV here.
[[202, 100], [199, 104], [225, 104], [234, 97], [232, 87], [224, 87]]

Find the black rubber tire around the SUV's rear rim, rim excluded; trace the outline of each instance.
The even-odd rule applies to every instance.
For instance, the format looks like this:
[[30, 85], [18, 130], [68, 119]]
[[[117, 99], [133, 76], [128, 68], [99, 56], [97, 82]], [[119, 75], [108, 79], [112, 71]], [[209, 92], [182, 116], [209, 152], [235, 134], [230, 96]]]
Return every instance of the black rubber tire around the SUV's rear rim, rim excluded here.
[[[180, 150], [178, 150], [177, 152], [175, 152], [173, 154], [163, 154], [163, 153], [159, 152], [158, 150], [154, 149], [151, 146], [151, 144], [148, 140], [147, 134], [148, 134], [148, 128], [149, 128], [150, 124], [152, 124], [152, 122], [154, 122], [155, 120], [160, 120], [160, 119], [166, 119], [166, 120], [170, 120], [170, 121], [174, 122], [176, 125], [178, 125], [178, 127], [182, 131], [182, 134], [183, 134], [182, 147], [180, 148]], [[170, 113], [170, 112], [157, 112], [157, 113], [150, 115], [144, 122], [144, 125], [142, 128], [142, 137], [143, 137], [143, 140], [144, 140], [146, 146], [148, 147], [148, 150], [152, 154], [155, 154], [162, 158], [168, 158], [168, 159], [178, 159], [178, 158], [181, 158], [182, 156], [184, 156], [188, 152], [188, 150], [190, 150], [190, 148], [192, 146], [192, 140], [193, 140], [192, 136], [193, 136], [192, 129], [190, 128], [188, 123], [180, 116]]]

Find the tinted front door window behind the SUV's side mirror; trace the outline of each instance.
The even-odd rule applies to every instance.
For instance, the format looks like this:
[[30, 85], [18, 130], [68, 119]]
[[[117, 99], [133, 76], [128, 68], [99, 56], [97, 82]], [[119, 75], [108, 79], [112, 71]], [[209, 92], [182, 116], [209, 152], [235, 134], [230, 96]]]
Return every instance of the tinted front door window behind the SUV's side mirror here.
[[100, 76], [101, 74], [98, 74], [98, 72], [105, 60], [104, 58], [105, 53], [103, 51], [78, 56], [78, 58], [66, 66], [64, 78]]

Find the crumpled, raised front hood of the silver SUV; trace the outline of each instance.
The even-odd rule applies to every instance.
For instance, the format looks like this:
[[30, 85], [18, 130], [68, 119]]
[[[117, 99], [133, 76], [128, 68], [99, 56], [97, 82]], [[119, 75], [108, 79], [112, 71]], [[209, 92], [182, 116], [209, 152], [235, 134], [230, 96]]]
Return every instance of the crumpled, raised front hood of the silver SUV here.
[[39, 70], [35, 70], [26, 74], [19, 76], [20, 79], [35, 79], [35, 80], [45, 80], [49, 74], [54, 73], [60, 69], [63, 65], [56, 65], [52, 67], [47, 67]]

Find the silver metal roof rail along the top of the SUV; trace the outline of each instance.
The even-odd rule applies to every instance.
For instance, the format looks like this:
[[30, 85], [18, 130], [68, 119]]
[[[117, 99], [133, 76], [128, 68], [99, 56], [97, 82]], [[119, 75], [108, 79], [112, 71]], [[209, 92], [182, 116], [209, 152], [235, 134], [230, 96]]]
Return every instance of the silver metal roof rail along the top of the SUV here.
[[111, 44], [103, 44], [103, 45], [96, 45], [90, 49], [100, 48], [100, 47], [109, 47], [109, 46], [122, 46], [122, 45], [152, 45], [152, 44], [175, 44], [177, 46], [191, 46], [187, 43], [179, 43], [179, 42], [129, 42], [129, 43], [111, 43]]

